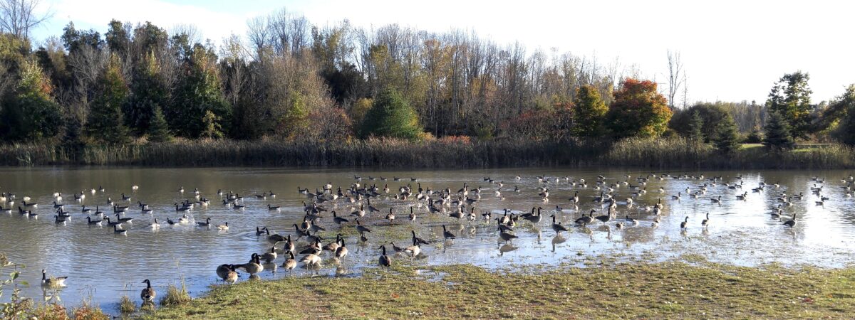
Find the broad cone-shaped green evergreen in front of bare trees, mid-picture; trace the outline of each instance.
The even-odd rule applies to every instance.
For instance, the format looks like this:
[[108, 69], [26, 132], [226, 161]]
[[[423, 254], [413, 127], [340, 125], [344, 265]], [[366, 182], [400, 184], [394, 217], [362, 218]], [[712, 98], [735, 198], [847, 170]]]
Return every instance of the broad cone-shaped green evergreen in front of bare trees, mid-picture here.
[[374, 103], [363, 119], [360, 137], [397, 137], [417, 140], [422, 135], [422, 126], [416, 111], [397, 90], [386, 89], [374, 99]]

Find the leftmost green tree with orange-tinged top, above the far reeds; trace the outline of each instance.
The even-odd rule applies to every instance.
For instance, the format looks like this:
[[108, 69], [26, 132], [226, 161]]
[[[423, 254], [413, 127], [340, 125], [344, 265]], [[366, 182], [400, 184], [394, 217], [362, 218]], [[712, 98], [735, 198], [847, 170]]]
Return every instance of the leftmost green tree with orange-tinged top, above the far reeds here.
[[52, 86], [38, 63], [25, 61], [15, 94], [0, 111], [0, 131], [11, 140], [35, 141], [56, 136], [62, 125], [60, 107], [50, 97]]

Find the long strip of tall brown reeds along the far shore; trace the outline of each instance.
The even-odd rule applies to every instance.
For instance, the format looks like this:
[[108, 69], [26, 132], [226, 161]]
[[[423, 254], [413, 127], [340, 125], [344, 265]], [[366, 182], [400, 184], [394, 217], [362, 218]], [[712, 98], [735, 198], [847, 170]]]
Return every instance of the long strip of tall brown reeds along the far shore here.
[[746, 145], [718, 154], [682, 138], [627, 139], [616, 143], [353, 140], [342, 143], [180, 141], [87, 146], [69, 150], [44, 144], [0, 145], [0, 166], [378, 166], [481, 168], [501, 166], [640, 166], [659, 169], [846, 169], [855, 149], [805, 145], [773, 153]]

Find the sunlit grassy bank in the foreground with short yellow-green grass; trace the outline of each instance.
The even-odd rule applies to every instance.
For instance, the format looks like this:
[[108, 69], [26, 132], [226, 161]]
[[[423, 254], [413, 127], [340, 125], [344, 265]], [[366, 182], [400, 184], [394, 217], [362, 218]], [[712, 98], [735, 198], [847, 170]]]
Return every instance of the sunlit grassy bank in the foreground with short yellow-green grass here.
[[[438, 276], [439, 275], [439, 276]], [[215, 286], [167, 318], [847, 318], [855, 269], [668, 262], [533, 274], [469, 265]]]

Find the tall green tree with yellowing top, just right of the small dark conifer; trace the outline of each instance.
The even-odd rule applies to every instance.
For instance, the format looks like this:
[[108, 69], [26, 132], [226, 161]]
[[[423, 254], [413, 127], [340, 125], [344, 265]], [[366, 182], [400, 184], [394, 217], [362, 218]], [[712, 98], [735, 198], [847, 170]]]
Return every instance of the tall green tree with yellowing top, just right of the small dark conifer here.
[[[184, 66], [186, 72], [174, 90], [174, 102], [163, 110], [174, 134], [195, 138], [219, 136], [228, 131], [228, 121], [224, 119], [231, 119], [232, 108], [222, 96], [214, 62], [215, 56], [209, 49], [201, 44], [193, 47]], [[216, 122], [215, 131], [211, 131], [211, 123], [205, 122], [210, 120]]]

